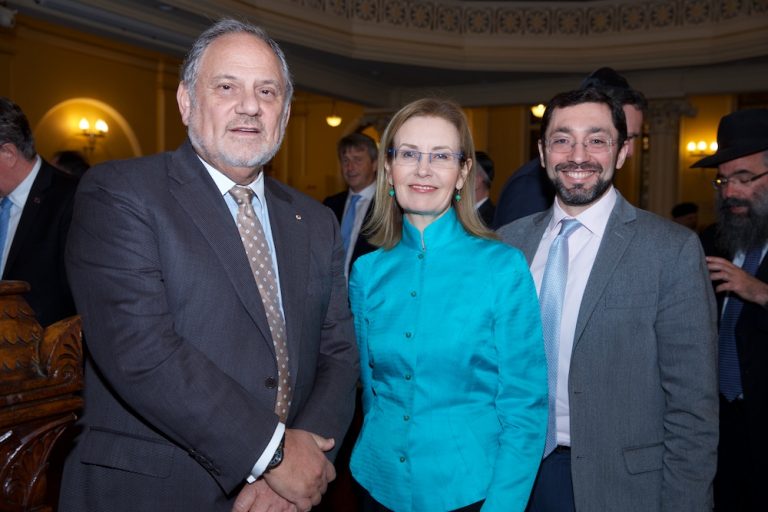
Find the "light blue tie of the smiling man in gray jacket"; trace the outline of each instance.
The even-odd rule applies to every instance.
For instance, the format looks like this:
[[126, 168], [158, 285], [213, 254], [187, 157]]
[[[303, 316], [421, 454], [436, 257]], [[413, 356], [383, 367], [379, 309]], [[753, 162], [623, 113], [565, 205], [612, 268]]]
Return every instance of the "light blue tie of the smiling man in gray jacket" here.
[[560, 233], [555, 237], [547, 256], [547, 266], [541, 281], [541, 323], [544, 329], [544, 350], [547, 353], [547, 381], [549, 384], [549, 421], [544, 457], [557, 446], [555, 428], [555, 398], [557, 396], [557, 362], [560, 347], [560, 319], [563, 314], [565, 283], [568, 280], [568, 237], [581, 227], [576, 219], [563, 219]]

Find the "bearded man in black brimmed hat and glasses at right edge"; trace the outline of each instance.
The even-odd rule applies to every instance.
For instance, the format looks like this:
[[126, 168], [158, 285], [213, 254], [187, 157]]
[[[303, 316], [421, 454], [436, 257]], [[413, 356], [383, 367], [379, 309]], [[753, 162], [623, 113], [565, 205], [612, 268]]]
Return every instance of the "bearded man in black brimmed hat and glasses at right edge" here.
[[765, 510], [768, 483], [768, 109], [734, 112], [717, 129], [720, 218], [703, 240], [720, 311], [720, 445], [715, 510]]

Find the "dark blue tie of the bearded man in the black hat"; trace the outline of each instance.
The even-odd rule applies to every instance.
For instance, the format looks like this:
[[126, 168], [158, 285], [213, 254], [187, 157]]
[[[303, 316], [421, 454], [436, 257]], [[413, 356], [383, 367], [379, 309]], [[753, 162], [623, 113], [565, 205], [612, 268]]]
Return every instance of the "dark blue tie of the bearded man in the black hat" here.
[[[741, 266], [742, 270], [755, 275], [760, 266], [762, 253], [762, 247], [753, 247], [747, 251], [744, 264]], [[723, 316], [720, 319], [720, 337], [718, 340], [720, 394], [729, 402], [734, 401], [742, 393], [739, 355], [736, 351], [736, 323], [739, 321], [742, 307], [744, 307], [744, 303], [738, 295], [728, 295], [728, 303], [725, 305]]]

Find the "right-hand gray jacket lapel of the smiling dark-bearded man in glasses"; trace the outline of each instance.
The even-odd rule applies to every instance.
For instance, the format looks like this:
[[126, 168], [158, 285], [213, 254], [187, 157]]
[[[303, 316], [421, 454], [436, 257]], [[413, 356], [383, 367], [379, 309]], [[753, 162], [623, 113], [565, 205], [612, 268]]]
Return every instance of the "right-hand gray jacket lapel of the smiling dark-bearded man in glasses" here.
[[634, 207], [618, 195], [617, 191], [616, 204], [605, 227], [605, 234], [600, 242], [600, 248], [581, 299], [579, 318], [576, 321], [576, 331], [573, 336], [574, 348], [579, 343], [595, 307], [603, 297], [605, 287], [611, 280], [621, 257], [635, 236], [636, 218], [637, 213]]

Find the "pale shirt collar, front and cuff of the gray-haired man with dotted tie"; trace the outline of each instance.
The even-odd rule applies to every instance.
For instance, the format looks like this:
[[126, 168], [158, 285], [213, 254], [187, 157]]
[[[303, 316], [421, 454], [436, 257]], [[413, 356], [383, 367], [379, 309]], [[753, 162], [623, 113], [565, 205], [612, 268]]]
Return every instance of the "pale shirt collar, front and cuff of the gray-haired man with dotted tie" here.
[[[237, 185], [237, 183], [229, 179], [220, 171], [208, 165], [208, 163], [202, 158], [200, 158], [200, 161], [203, 162], [205, 169], [208, 171], [208, 174], [211, 175], [211, 178], [216, 184], [216, 187], [219, 189], [219, 192], [221, 192], [221, 195], [224, 197], [224, 201], [226, 201], [227, 203], [227, 207], [229, 208], [229, 213], [232, 214], [232, 218], [235, 221], [237, 221], [237, 202], [235, 202], [235, 198], [233, 198], [232, 195], [229, 193], [230, 189], [235, 185]], [[277, 293], [280, 301], [280, 310], [281, 312], [283, 312], [282, 311], [283, 299], [282, 299], [282, 294], [280, 293], [280, 275], [279, 275], [279, 269], [277, 267], [277, 255], [275, 252], [275, 242], [272, 239], [272, 227], [269, 223], [269, 211], [267, 210], [267, 200], [264, 196], [264, 173], [260, 172], [259, 176], [253, 181], [253, 183], [248, 185], [248, 187], [250, 187], [250, 189], [253, 190], [253, 193], [255, 194], [255, 197], [256, 197], [256, 200], [254, 201], [254, 204], [253, 204], [253, 210], [256, 212], [256, 216], [259, 218], [259, 222], [261, 222], [261, 228], [264, 230], [264, 236], [266, 237], [267, 243], [269, 244], [269, 252], [272, 255], [272, 267], [275, 270], [275, 281], [277, 282]], [[283, 312], [283, 316], [285, 316], [284, 312]], [[253, 469], [251, 469], [251, 474], [246, 479], [248, 483], [255, 482], [256, 479], [259, 478], [267, 469], [267, 465], [269, 464], [269, 461], [272, 460], [272, 456], [275, 454], [275, 450], [277, 450], [277, 447], [280, 444], [280, 440], [283, 438], [284, 433], [285, 433], [285, 424], [278, 422], [277, 428], [275, 429], [275, 432], [272, 434], [272, 439], [270, 439], [269, 444], [267, 444], [267, 447], [261, 453], [261, 456], [256, 461], [256, 464], [254, 464]], [[243, 432], [243, 435], [248, 435], [248, 433]]]

